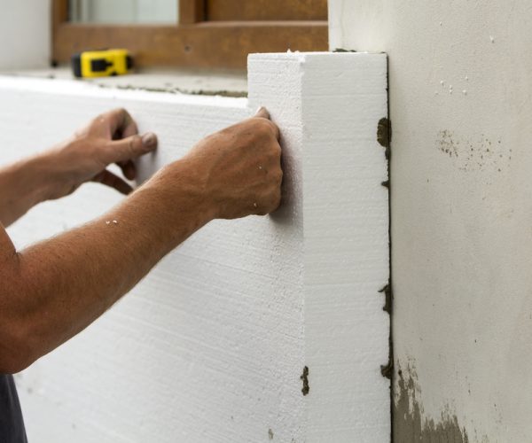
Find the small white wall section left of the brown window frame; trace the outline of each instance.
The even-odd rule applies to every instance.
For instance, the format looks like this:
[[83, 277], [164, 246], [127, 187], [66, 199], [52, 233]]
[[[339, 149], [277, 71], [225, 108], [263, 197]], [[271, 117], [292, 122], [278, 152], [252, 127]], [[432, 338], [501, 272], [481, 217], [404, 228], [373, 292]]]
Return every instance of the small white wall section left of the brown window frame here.
[[0, 70], [50, 65], [50, 17], [50, 0], [0, 0]]

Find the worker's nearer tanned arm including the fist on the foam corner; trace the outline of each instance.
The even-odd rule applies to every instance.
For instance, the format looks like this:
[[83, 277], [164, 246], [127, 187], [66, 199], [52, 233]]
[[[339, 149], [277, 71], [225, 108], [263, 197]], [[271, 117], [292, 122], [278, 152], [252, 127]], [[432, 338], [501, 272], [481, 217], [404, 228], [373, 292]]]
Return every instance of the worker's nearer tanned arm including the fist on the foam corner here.
[[277, 208], [280, 147], [266, 117], [207, 137], [80, 228], [21, 252], [0, 230], [0, 372], [73, 337], [208, 221]]

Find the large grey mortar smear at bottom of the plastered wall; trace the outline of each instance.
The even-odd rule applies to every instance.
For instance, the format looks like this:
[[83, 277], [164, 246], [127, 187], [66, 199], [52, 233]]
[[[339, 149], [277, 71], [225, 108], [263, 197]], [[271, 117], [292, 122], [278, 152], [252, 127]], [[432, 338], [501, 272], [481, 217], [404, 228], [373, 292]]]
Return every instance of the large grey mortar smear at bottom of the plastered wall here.
[[406, 369], [397, 371], [394, 402], [394, 443], [469, 443], [464, 428], [460, 428], [458, 418], [444, 408], [441, 420], [424, 418], [420, 403], [421, 390], [416, 369], [408, 364]]

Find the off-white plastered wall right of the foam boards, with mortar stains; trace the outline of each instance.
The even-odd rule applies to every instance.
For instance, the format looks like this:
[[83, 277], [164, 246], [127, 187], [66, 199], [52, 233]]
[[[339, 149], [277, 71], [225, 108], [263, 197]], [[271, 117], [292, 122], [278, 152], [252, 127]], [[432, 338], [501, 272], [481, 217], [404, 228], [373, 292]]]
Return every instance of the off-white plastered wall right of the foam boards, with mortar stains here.
[[395, 441], [531, 441], [530, 4], [329, 4], [389, 59]]

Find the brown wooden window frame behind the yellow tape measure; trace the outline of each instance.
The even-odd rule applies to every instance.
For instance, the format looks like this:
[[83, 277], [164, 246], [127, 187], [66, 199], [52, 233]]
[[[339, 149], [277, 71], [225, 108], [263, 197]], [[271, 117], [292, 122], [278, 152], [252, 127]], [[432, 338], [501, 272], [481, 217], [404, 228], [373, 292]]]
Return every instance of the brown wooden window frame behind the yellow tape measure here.
[[179, 24], [91, 25], [68, 21], [68, 0], [52, 0], [53, 63], [94, 48], [124, 47], [136, 65], [246, 67], [254, 52], [327, 51], [326, 20], [205, 21], [206, 0], [181, 0]]

